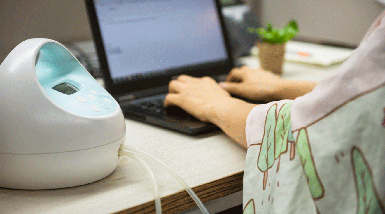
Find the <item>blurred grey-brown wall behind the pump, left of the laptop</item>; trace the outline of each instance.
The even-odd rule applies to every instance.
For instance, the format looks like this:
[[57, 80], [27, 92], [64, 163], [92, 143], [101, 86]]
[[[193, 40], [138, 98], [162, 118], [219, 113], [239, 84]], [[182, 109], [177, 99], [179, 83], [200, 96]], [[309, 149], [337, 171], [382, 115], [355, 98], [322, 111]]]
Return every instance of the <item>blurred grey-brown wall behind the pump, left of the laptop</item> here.
[[91, 39], [83, 0], [0, 0], [0, 63], [28, 38]]

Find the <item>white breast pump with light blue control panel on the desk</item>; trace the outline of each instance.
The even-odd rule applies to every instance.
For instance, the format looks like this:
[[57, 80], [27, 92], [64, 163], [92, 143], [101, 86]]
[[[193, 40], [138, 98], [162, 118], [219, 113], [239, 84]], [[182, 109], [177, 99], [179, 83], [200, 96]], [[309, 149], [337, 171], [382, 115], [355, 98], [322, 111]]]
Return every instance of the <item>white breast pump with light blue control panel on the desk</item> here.
[[0, 187], [54, 189], [114, 171], [122, 110], [67, 48], [28, 39], [0, 65]]

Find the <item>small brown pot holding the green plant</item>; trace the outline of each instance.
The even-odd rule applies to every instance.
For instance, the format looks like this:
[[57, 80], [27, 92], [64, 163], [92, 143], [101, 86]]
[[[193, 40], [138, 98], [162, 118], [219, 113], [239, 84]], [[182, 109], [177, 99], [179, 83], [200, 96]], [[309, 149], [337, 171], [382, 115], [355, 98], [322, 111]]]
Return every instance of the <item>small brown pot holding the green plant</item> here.
[[275, 74], [282, 74], [283, 55], [285, 54], [285, 42], [280, 44], [270, 44], [267, 42], [257, 42], [259, 50], [259, 60], [261, 68], [269, 70]]

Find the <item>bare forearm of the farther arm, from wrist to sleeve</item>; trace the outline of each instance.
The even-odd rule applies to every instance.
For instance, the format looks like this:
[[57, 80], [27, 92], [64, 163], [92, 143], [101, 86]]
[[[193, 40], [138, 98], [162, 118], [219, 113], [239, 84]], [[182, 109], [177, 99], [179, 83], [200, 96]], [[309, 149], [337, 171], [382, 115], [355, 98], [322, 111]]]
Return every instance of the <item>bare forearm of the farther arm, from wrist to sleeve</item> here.
[[275, 93], [275, 98], [276, 100], [294, 100], [297, 97], [311, 92], [317, 84], [318, 82], [282, 80], [282, 84]]

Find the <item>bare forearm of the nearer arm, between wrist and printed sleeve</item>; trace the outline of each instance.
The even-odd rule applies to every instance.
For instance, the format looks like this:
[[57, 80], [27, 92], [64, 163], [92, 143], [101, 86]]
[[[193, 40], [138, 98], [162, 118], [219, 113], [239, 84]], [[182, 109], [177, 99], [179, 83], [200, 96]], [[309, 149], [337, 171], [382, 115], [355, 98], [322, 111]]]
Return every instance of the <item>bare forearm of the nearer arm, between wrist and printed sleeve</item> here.
[[255, 104], [240, 99], [229, 98], [211, 108], [208, 120], [218, 125], [231, 138], [247, 148], [246, 119], [255, 106]]

